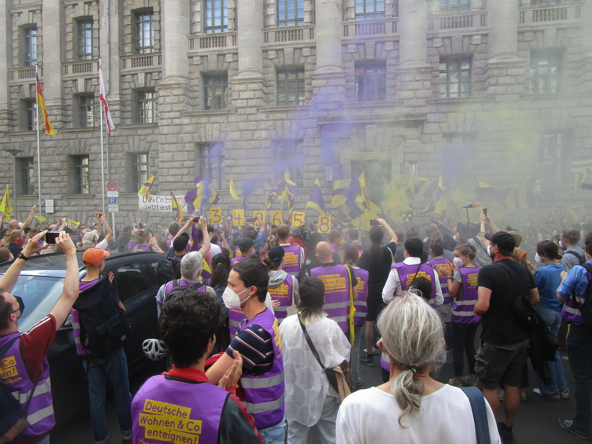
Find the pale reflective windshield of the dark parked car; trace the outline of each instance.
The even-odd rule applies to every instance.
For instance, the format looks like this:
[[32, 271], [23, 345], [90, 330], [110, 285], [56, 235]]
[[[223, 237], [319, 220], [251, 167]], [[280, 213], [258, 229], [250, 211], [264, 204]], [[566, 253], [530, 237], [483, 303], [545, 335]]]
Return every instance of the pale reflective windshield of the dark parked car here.
[[33, 327], [33, 324], [52, 311], [62, 295], [64, 279], [48, 276], [19, 276], [11, 294], [20, 296], [25, 310], [18, 320], [18, 331]]

